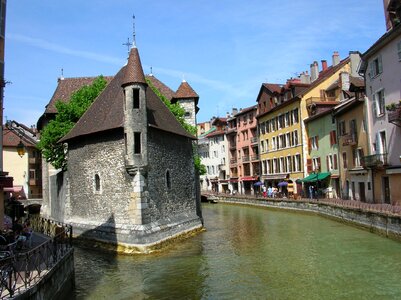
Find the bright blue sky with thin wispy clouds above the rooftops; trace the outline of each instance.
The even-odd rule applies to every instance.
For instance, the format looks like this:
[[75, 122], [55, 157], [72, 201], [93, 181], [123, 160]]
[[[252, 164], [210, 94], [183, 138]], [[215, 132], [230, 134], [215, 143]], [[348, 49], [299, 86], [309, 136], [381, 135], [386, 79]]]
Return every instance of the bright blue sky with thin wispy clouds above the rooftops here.
[[[382, 0], [8, 0], [4, 122], [36, 124], [57, 79], [115, 75], [135, 15], [145, 74], [199, 95], [198, 122], [256, 104], [313, 61], [365, 52], [385, 33]], [[63, 70], [63, 71], [62, 71]]]

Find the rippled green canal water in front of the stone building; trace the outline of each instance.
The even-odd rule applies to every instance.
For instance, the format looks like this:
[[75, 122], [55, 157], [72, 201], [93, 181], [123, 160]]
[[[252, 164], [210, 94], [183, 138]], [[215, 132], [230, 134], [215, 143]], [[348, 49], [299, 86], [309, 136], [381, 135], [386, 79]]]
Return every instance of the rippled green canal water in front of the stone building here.
[[401, 243], [316, 215], [203, 205], [147, 256], [75, 251], [76, 299], [401, 299]]

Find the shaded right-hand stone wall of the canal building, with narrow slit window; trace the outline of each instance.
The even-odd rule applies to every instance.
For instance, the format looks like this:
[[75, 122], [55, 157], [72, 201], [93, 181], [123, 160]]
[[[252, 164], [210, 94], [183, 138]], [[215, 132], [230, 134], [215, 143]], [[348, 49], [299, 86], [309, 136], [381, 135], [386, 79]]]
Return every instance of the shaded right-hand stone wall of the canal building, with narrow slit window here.
[[[148, 132], [148, 191], [151, 221], [178, 214], [196, 216], [192, 141], [160, 130]], [[167, 172], [170, 187], [167, 184]]]

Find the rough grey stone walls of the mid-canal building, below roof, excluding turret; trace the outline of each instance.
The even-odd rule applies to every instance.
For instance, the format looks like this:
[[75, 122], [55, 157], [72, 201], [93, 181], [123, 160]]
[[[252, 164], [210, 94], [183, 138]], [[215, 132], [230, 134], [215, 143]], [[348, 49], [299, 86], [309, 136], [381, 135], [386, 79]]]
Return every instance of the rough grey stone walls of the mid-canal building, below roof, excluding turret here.
[[134, 193], [134, 177], [126, 172], [124, 148], [122, 130], [69, 145], [70, 200], [65, 214], [74, 235], [113, 244], [112, 250], [119, 252], [148, 252], [154, 244], [201, 228], [192, 141], [149, 129], [149, 165], [141, 170], [144, 192], [140, 197], [144, 199], [135, 204], [146, 214], [145, 223], [135, 222], [130, 211], [132, 197], [138, 195]]

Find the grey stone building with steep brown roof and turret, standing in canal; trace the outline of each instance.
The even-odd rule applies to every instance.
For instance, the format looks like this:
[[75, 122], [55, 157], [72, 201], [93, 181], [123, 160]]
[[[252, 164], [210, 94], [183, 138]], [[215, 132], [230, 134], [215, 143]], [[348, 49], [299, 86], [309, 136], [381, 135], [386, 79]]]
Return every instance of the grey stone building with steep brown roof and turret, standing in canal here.
[[57, 179], [64, 200], [50, 199], [48, 214], [72, 224], [77, 236], [125, 252], [148, 252], [200, 229], [193, 140], [148, 86], [133, 47], [61, 140], [68, 144], [68, 171]]

